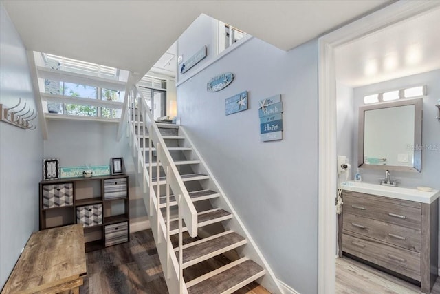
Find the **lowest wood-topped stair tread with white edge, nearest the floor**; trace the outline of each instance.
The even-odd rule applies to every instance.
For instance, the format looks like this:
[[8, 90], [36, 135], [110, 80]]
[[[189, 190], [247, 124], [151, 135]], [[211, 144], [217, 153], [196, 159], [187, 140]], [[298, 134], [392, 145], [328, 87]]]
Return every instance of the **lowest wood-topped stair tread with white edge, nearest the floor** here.
[[211, 277], [208, 273], [206, 274], [206, 280], [202, 280], [197, 284], [190, 285], [192, 281], [187, 283], [187, 286], [189, 285], [188, 294], [233, 293], [265, 275], [265, 270], [252, 260], [245, 260], [232, 267], [226, 264], [224, 267], [227, 268], [225, 271]]

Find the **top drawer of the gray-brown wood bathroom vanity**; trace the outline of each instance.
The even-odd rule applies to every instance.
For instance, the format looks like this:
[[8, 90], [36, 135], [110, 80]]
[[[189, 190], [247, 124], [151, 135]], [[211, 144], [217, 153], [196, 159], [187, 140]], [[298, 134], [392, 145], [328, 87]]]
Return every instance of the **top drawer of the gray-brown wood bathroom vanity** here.
[[[358, 194], [362, 195], [362, 193]], [[368, 197], [357, 197], [352, 196], [350, 193], [344, 193], [342, 199], [344, 201], [344, 213], [382, 220], [383, 222], [421, 231], [421, 209], [419, 207], [397, 204], [397, 201], [395, 201], [396, 203], [382, 201], [382, 197], [376, 198], [366, 194], [364, 196]]]

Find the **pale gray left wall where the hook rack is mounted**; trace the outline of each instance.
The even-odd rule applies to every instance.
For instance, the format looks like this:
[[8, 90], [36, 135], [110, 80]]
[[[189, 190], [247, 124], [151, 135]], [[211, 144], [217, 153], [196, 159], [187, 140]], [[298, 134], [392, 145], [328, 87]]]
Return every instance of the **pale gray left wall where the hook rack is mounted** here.
[[[21, 98], [35, 109], [28, 56], [3, 3], [0, 21], [0, 103], [12, 107]], [[43, 137], [37, 120], [34, 131], [0, 123], [0, 288], [39, 229]]]

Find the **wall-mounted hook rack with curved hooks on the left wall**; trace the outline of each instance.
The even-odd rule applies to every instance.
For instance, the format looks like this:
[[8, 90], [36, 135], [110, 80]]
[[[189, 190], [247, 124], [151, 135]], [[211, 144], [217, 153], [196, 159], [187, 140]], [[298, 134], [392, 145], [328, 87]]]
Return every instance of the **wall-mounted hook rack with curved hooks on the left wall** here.
[[[16, 109], [19, 110], [17, 111]], [[31, 112], [30, 106], [27, 107], [26, 103], [21, 107], [21, 98], [19, 98], [19, 103], [11, 108], [6, 107], [4, 104], [0, 104], [0, 120], [5, 123], [21, 127], [22, 129], [36, 129], [36, 125], [30, 123], [30, 121], [35, 118], [36, 112], [34, 109], [32, 109]]]

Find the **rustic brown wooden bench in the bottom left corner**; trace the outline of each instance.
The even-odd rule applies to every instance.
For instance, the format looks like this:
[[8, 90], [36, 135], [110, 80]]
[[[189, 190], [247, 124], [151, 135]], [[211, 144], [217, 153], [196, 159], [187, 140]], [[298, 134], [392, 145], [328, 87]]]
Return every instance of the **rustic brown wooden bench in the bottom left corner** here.
[[1, 293], [79, 293], [87, 275], [83, 224], [32, 233]]

